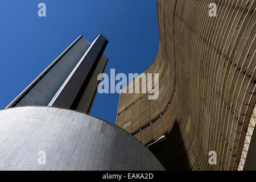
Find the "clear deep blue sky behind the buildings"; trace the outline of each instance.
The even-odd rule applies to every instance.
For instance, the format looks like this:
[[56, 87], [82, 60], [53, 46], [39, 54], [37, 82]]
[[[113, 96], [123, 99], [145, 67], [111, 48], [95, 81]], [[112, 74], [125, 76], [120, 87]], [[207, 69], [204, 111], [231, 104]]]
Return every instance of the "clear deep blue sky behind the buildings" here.
[[[38, 16], [40, 2], [46, 17]], [[142, 73], [159, 48], [156, 0], [1, 0], [0, 23], [0, 109], [79, 35], [109, 39], [107, 74]], [[115, 123], [118, 100], [117, 93], [97, 94], [91, 114]]]

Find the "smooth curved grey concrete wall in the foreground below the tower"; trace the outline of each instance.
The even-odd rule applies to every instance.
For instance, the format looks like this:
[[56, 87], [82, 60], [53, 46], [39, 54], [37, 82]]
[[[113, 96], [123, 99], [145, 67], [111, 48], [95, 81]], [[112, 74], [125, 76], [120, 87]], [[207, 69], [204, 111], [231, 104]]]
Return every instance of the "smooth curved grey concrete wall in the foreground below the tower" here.
[[[46, 152], [46, 164], [40, 151]], [[0, 111], [1, 170], [164, 170], [125, 130], [54, 107]]]

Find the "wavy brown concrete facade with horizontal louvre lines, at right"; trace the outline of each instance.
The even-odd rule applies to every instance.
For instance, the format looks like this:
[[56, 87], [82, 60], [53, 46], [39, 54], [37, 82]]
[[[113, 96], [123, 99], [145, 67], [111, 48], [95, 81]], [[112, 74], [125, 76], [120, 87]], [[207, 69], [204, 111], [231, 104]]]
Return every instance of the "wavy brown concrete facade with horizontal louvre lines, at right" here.
[[[210, 3], [216, 17], [209, 16]], [[242, 170], [247, 155], [255, 159], [249, 146], [256, 1], [158, 0], [157, 6], [159, 52], [144, 73], [159, 73], [159, 98], [122, 93], [117, 125], [151, 144], [166, 169]], [[216, 151], [215, 165], [209, 151]]]

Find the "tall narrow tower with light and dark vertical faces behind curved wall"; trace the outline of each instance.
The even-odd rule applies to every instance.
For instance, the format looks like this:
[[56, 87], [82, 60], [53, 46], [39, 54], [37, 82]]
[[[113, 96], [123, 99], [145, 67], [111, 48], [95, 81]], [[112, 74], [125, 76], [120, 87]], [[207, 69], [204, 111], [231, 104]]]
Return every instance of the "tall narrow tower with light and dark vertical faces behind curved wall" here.
[[105, 71], [108, 44], [99, 34], [90, 43], [80, 35], [7, 108], [55, 106], [90, 113], [97, 94], [99, 73]]

